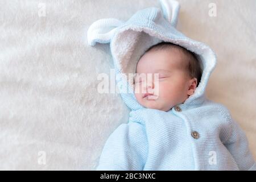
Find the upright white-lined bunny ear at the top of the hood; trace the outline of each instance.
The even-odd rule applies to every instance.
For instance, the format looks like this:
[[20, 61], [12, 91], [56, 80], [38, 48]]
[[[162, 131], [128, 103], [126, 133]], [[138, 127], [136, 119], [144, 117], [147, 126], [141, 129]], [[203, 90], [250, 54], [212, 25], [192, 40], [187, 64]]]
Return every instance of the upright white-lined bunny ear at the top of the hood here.
[[179, 14], [180, 5], [179, 2], [175, 0], [160, 0], [163, 15], [168, 22], [171, 23], [173, 27], [177, 25], [177, 16]]

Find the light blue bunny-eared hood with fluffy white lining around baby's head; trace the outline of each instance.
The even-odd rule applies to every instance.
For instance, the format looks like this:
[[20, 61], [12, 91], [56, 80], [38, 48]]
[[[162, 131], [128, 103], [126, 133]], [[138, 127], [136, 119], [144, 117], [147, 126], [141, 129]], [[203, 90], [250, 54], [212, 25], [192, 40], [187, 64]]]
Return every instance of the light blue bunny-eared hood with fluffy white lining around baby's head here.
[[[116, 82], [123, 101], [132, 110], [142, 109], [134, 95], [129, 73], [135, 73], [139, 57], [151, 46], [170, 42], [195, 53], [203, 74], [195, 93], [184, 105], [200, 104], [204, 100], [205, 88], [216, 65], [216, 55], [207, 45], [189, 39], [176, 30], [179, 3], [174, 0], [160, 0], [162, 9], [150, 7], [135, 13], [127, 22], [118, 19], [100, 19], [88, 29], [88, 44], [110, 43], [114, 60]], [[121, 90], [121, 91], [120, 91]]]

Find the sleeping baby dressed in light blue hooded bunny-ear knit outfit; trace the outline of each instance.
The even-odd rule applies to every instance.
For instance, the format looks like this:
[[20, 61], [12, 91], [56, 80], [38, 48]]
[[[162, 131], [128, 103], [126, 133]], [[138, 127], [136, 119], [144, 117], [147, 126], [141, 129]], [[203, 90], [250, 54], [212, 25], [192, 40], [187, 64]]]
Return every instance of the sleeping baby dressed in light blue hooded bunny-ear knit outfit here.
[[[167, 3], [168, 2], [168, 3]], [[127, 22], [100, 19], [88, 42], [110, 43], [116, 79], [131, 109], [110, 134], [97, 170], [255, 170], [245, 133], [205, 89], [216, 65], [204, 43], [177, 31], [179, 3], [140, 10]]]

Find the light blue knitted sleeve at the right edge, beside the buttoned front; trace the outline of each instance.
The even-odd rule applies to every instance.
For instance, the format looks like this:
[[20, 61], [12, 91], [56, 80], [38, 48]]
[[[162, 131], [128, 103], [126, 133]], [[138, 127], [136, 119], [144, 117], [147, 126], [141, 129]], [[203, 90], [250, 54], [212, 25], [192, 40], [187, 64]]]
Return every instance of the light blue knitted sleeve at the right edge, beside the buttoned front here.
[[240, 170], [256, 170], [256, 164], [249, 150], [245, 133], [233, 118], [231, 118], [230, 123], [232, 125], [232, 135], [224, 145], [236, 160]]

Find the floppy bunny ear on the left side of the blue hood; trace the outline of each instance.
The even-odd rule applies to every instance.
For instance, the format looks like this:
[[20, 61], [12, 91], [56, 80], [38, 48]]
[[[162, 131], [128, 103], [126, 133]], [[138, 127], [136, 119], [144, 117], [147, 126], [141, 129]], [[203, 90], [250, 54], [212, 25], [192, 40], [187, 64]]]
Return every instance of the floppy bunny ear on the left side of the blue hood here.
[[98, 43], [109, 43], [112, 39], [117, 27], [121, 26], [123, 22], [114, 18], [99, 19], [94, 22], [87, 31], [88, 44], [94, 46]]

